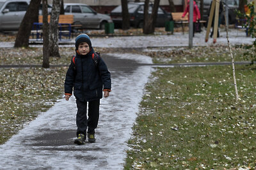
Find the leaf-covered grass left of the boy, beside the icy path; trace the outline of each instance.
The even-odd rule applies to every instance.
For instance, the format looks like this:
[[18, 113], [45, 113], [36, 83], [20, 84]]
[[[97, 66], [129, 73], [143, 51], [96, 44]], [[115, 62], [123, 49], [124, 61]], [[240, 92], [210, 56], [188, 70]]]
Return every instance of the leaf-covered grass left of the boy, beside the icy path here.
[[67, 67], [1, 69], [0, 144], [61, 98], [66, 71]]

